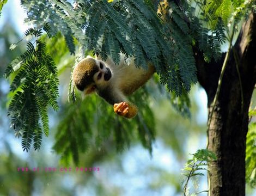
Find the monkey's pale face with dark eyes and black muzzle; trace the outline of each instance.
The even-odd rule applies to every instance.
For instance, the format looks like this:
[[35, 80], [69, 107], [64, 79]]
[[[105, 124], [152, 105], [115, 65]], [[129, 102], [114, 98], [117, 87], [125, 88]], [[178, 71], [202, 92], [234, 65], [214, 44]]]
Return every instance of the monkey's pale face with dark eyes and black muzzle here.
[[99, 68], [99, 71], [94, 74], [93, 80], [96, 84], [96, 87], [103, 87], [104, 85], [108, 84], [109, 79], [112, 77], [112, 73], [106, 64], [101, 60], [96, 60], [96, 64]]

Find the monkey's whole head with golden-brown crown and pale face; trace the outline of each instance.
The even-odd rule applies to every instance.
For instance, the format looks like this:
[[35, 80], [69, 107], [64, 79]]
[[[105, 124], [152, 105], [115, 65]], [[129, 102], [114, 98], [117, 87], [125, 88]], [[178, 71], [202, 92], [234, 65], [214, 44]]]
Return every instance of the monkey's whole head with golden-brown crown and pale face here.
[[73, 71], [74, 84], [78, 90], [84, 91], [86, 94], [104, 87], [111, 77], [111, 70], [106, 64], [90, 56], [82, 59]]

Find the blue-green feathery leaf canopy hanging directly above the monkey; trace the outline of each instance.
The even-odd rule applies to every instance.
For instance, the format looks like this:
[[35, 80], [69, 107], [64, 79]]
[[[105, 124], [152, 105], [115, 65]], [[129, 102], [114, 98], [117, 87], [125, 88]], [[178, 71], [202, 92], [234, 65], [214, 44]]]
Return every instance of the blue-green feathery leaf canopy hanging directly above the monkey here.
[[[110, 56], [115, 63], [119, 62], [120, 52], [134, 56], [138, 66], [147, 67], [150, 61], [161, 76], [161, 82], [176, 95], [181, 95], [182, 89], [189, 91], [191, 84], [197, 81], [192, 48], [180, 39], [187, 37], [188, 27], [179, 9], [174, 9], [177, 24], [172, 27], [170, 41], [154, 7], [142, 0], [77, 1], [75, 9], [66, 1], [40, 1], [40, 4], [22, 1], [22, 5], [28, 10], [27, 21], [39, 27], [49, 23], [52, 34], [60, 30], [71, 53], [74, 53], [76, 38], [87, 50], [103, 58]], [[186, 55], [187, 51], [190, 55]]]

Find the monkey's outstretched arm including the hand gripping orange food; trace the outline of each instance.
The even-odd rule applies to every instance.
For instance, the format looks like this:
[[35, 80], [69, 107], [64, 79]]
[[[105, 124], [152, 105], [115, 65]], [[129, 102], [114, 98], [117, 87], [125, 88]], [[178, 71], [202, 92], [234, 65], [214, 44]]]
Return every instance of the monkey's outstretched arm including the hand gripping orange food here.
[[113, 105], [114, 112], [126, 118], [135, 117], [138, 112], [137, 106], [126, 101], [126, 97], [120, 90], [112, 90], [113, 88], [106, 88], [100, 90], [98, 94], [108, 103]]

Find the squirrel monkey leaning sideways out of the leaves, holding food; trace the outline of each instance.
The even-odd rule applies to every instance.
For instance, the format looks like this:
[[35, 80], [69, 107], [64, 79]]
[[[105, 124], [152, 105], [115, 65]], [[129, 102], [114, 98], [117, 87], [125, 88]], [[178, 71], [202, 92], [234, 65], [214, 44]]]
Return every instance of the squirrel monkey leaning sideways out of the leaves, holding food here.
[[132, 118], [138, 109], [127, 101], [126, 96], [145, 84], [154, 72], [155, 68], [150, 64], [147, 70], [136, 68], [133, 60], [128, 65], [124, 55], [121, 55], [119, 65], [115, 65], [109, 58], [103, 62], [87, 56], [77, 64], [72, 77], [78, 90], [84, 94], [96, 92], [113, 105], [115, 113]]

